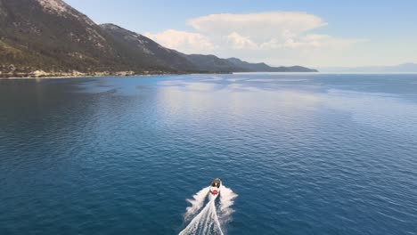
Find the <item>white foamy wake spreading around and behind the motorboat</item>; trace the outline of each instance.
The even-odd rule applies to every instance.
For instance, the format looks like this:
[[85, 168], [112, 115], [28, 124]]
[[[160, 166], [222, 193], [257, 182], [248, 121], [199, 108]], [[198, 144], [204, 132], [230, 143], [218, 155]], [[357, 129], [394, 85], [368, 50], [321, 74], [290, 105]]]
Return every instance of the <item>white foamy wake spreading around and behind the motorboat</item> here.
[[[222, 228], [231, 220], [234, 212], [233, 200], [238, 195], [223, 185], [220, 186], [220, 196], [209, 193], [209, 188], [206, 187], [194, 194], [192, 199], [187, 199], [191, 206], [186, 208], [184, 221], [191, 222], [179, 235], [224, 234]], [[217, 197], [220, 197], [218, 206]]]

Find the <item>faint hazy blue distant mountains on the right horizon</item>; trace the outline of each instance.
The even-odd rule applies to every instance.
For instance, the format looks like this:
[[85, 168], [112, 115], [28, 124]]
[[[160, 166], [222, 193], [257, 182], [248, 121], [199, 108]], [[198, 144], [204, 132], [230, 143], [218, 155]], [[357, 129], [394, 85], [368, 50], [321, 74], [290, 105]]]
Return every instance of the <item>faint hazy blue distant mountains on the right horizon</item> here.
[[370, 66], [357, 68], [323, 68], [323, 72], [345, 73], [417, 73], [417, 64], [404, 63], [395, 66]]

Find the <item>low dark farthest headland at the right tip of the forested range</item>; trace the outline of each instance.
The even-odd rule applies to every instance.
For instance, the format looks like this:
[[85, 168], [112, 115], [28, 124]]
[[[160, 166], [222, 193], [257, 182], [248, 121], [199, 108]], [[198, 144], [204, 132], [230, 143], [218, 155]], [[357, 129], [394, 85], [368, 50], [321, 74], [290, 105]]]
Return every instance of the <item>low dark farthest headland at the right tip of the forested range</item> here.
[[227, 61], [230, 61], [235, 66], [238, 66], [250, 72], [318, 72], [316, 69], [308, 69], [301, 66], [271, 67], [266, 63], [249, 63], [246, 61], [241, 61], [237, 58], [229, 58], [227, 59]]

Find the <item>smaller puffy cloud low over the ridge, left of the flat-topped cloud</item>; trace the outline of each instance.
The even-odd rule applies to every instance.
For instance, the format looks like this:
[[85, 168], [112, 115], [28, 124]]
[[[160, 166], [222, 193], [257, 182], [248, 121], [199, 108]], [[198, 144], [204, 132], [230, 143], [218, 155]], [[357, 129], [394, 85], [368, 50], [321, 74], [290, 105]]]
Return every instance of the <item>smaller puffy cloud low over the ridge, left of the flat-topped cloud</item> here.
[[144, 36], [160, 45], [179, 50], [182, 53], [204, 53], [215, 49], [207, 36], [198, 33], [168, 29], [158, 34], [145, 33]]

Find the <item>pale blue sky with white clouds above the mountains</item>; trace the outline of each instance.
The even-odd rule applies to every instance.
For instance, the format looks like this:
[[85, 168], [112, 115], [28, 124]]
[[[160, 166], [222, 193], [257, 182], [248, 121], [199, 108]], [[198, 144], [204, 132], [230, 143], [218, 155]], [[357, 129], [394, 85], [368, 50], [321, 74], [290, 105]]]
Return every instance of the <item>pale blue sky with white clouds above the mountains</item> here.
[[273, 66], [417, 63], [415, 0], [64, 0], [182, 53]]

